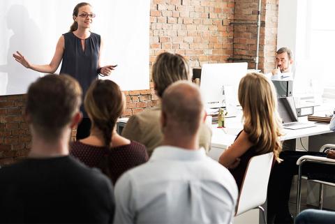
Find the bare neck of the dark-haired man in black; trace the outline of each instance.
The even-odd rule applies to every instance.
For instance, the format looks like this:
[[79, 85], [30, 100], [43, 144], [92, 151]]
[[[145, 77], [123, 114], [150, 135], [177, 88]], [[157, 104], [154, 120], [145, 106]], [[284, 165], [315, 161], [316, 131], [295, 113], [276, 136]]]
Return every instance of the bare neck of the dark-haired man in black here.
[[59, 140], [47, 141], [43, 137], [33, 136], [29, 158], [52, 158], [68, 155], [70, 133], [63, 135]]

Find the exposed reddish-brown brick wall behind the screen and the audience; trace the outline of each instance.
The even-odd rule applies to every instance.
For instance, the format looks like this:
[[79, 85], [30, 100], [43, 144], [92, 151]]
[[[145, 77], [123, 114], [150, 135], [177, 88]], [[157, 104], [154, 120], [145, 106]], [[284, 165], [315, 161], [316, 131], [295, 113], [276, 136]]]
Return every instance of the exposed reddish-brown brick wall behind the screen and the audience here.
[[[255, 54], [255, 27], [232, 27], [230, 22], [234, 19], [255, 20], [257, 2], [151, 0], [149, 66], [158, 54], [165, 51], [184, 55], [191, 68], [200, 68], [204, 63], [228, 62], [232, 57], [252, 58]], [[278, 0], [266, 0], [262, 4], [262, 59], [259, 66], [262, 69], [274, 61], [273, 58], [264, 60], [264, 56], [273, 57], [276, 50], [277, 8]], [[265, 43], [271, 45], [264, 47]], [[253, 68], [253, 64], [249, 67]], [[150, 89], [126, 91], [124, 116], [158, 104], [152, 77], [150, 80]], [[24, 100], [25, 95], [0, 96], [0, 165], [13, 163], [27, 156], [29, 151], [31, 137], [22, 117]]]

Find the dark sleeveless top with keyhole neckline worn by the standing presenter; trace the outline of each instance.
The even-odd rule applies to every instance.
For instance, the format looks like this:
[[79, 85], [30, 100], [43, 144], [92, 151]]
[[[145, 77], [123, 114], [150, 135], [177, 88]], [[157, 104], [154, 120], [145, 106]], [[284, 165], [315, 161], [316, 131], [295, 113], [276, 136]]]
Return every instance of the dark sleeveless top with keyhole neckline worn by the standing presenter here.
[[[73, 32], [64, 33], [65, 47], [60, 73], [65, 73], [74, 77], [82, 87], [82, 98], [94, 80], [98, 78], [98, 59], [101, 38], [96, 33], [85, 39], [85, 50], [82, 50], [81, 39]], [[84, 106], [80, 106], [80, 111], [84, 117], [88, 117], [84, 111]]]

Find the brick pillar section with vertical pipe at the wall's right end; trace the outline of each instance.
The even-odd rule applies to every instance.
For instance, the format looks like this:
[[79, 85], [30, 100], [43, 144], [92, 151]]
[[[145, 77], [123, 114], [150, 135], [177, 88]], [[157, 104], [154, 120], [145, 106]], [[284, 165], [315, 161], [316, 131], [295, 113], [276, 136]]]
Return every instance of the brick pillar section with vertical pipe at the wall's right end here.
[[[234, 22], [257, 22], [258, 0], [235, 0]], [[269, 72], [276, 57], [278, 0], [262, 0], [258, 69]], [[235, 61], [248, 61], [248, 68], [255, 68], [257, 26], [234, 25]]]

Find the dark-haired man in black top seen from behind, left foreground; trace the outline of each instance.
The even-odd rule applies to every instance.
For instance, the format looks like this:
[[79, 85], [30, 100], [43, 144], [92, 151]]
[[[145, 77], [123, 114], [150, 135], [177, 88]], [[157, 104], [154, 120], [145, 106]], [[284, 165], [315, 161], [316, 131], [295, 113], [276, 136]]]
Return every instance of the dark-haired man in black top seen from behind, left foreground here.
[[0, 223], [112, 222], [110, 180], [68, 156], [81, 97], [80, 85], [68, 75], [46, 75], [29, 87], [24, 117], [31, 151], [0, 169]]

